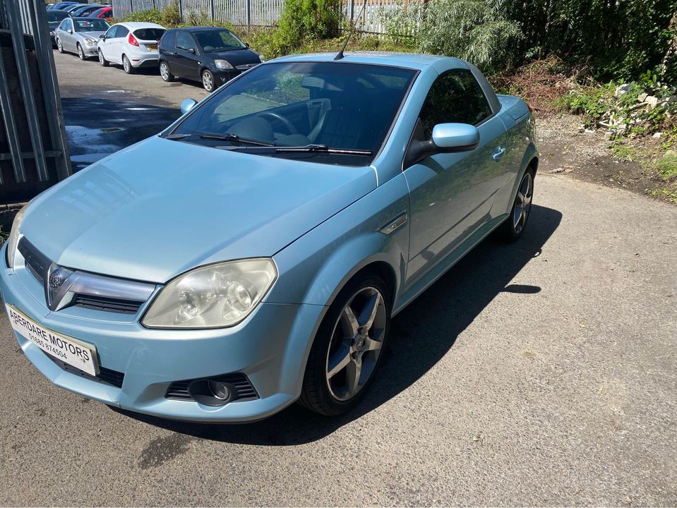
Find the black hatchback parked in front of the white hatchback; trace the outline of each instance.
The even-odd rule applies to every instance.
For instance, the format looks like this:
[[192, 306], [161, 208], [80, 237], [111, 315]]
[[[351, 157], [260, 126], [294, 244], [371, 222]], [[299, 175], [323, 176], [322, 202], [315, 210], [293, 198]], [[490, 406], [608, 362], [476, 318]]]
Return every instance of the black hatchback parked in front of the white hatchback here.
[[164, 32], [160, 40], [162, 79], [201, 81], [208, 92], [261, 61], [249, 44], [225, 28], [177, 28]]

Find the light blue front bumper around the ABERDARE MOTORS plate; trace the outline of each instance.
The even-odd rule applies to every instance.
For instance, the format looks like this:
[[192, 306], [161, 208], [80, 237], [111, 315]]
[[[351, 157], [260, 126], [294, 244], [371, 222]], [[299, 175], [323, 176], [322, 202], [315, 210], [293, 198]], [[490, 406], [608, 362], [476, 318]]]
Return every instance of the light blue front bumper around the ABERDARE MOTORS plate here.
[[[118, 388], [68, 372], [15, 332], [28, 359], [55, 385], [129, 411], [184, 421], [255, 421], [299, 397], [322, 306], [261, 303], [236, 327], [211, 330], [145, 329], [138, 324], [145, 306], [133, 317], [83, 308], [51, 312], [37, 279], [25, 267], [6, 267], [5, 248], [4, 301], [44, 327], [92, 344], [102, 367], [124, 373]], [[172, 382], [227, 373], [244, 373], [259, 398], [219, 407], [165, 398]]]

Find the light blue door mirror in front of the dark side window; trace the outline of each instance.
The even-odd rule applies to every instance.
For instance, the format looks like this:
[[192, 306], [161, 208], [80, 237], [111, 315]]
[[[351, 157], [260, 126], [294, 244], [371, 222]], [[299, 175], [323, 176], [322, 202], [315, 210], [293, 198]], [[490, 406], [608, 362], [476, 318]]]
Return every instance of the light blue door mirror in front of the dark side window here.
[[405, 169], [438, 153], [467, 152], [479, 145], [477, 127], [467, 123], [438, 123], [431, 140], [412, 140], [405, 156]]

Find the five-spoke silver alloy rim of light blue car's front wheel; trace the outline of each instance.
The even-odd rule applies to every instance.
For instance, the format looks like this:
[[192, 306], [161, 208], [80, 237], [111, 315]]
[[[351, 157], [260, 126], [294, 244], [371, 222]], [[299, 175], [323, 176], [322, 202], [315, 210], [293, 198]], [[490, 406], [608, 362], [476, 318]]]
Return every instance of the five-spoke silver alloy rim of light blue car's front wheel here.
[[378, 289], [360, 289], [346, 303], [327, 352], [325, 373], [333, 397], [352, 399], [369, 381], [381, 355], [386, 323], [385, 302]]

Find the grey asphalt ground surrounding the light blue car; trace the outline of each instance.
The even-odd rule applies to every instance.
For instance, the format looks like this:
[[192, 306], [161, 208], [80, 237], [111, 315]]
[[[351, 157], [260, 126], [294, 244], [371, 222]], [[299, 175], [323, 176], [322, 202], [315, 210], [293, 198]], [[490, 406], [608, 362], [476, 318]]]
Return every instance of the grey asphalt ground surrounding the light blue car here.
[[[64, 97], [133, 104], [78, 117], [65, 102], [67, 123], [131, 138], [165, 119], [128, 108], [201, 92], [56, 64]], [[400, 313], [341, 418], [116, 411], [51, 385], [3, 313], [0, 504], [676, 505], [677, 207], [548, 169], [525, 236], [484, 241]]]

